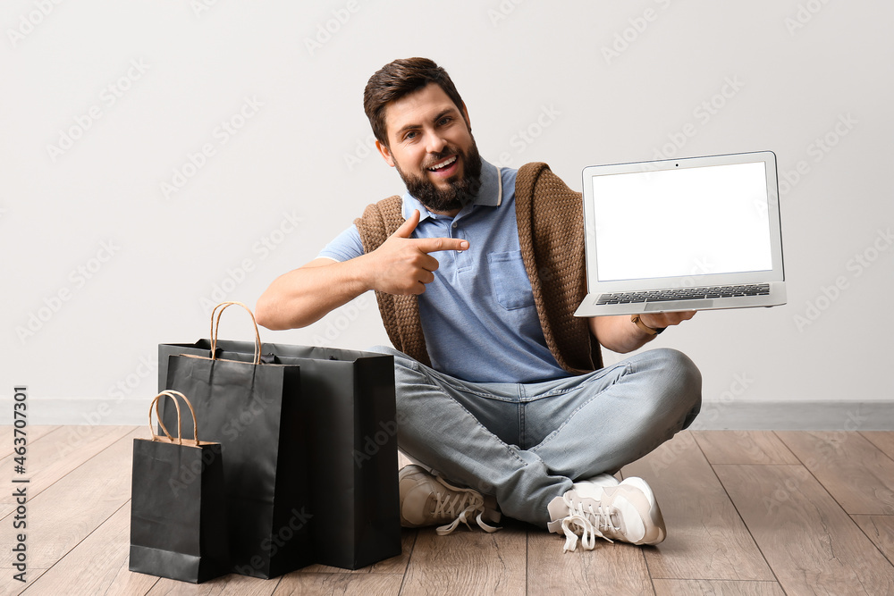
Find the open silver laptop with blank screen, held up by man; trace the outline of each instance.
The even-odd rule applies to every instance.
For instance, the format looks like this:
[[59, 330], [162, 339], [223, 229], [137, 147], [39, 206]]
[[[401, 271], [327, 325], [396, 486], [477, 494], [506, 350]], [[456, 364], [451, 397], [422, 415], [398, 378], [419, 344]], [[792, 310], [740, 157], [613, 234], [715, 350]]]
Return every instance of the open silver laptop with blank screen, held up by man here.
[[576, 316], [785, 304], [772, 151], [594, 165], [583, 179]]

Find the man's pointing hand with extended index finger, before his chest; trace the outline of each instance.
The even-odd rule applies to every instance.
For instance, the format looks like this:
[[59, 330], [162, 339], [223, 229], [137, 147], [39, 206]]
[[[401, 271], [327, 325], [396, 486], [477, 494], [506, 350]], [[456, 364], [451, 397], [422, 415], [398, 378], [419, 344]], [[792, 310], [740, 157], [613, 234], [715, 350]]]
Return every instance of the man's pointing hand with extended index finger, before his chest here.
[[429, 253], [439, 250], [467, 250], [468, 241], [458, 238], [410, 238], [419, 223], [413, 211], [382, 246], [369, 253], [367, 264], [373, 267], [373, 289], [388, 294], [421, 294], [426, 283], [434, 281], [438, 261]]

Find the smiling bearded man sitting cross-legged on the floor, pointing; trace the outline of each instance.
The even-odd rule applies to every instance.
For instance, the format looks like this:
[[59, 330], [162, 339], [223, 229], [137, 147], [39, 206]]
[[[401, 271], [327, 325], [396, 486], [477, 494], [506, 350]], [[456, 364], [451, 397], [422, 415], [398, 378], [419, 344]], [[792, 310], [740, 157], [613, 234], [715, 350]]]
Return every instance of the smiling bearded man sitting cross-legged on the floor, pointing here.
[[[480, 158], [468, 110], [430, 60], [397, 60], [364, 108], [403, 197], [367, 207], [257, 303], [270, 329], [316, 322], [375, 290], [394, 348], [401, 522], [492, 532], [501, 513], [564, 534], [656, 544], [640, 478], [613, 474], [698, 413], [701, 377], [671, 349], [602, 365], [694, 313], [575, 318], [586, 295], [580, 195], [544, 164]], [[635, 217], [636, 214], [631, 214]]]

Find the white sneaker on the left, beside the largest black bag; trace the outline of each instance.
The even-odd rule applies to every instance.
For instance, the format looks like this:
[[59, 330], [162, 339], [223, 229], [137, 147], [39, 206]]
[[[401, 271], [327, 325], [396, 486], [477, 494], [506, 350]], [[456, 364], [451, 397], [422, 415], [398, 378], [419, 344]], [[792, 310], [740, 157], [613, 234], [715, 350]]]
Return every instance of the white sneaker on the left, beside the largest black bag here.
[[500, 521], [501, 515], [492, 496], [485, 497], [473, 489], [453, 486], [440, 476], [429, 474], [422, 466], [404, 466], [398, 475], [403, 527], [446, 524], [436, 530], [443, 536], [453, 532], [460, 522], [471, 529], [468, 521], [472, 518], [485, 532], [500, 529], [485, 522], [495, 524]]

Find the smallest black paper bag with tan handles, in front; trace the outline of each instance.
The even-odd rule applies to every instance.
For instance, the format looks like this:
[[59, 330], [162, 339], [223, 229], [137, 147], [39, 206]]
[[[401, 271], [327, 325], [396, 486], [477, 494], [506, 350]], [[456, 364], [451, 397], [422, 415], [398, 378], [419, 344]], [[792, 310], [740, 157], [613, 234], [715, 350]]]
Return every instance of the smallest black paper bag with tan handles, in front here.
[[[174, 401], [177, 439], [152, 431], [152, 408]], [[223, 461], [220, 443], [183, 441], [178, 391], [163, 391], [149, 406], [152, 439], [133, 440], [131, 571], [201, 583], [229, 573]], [[192, 411], [192, 406], [190, 406]], [[192, 412], [195, 430], [196, 415]]]

